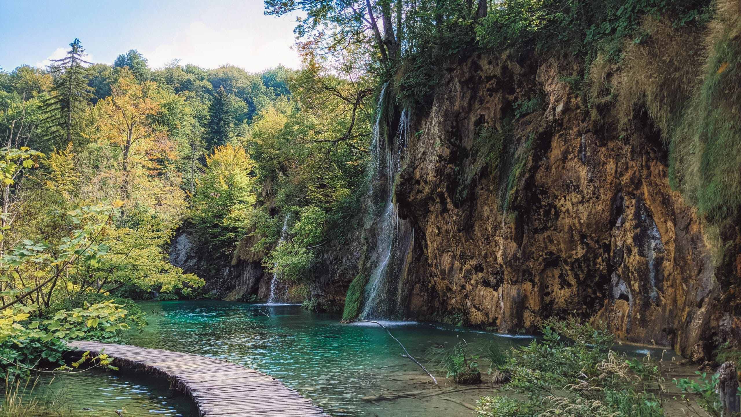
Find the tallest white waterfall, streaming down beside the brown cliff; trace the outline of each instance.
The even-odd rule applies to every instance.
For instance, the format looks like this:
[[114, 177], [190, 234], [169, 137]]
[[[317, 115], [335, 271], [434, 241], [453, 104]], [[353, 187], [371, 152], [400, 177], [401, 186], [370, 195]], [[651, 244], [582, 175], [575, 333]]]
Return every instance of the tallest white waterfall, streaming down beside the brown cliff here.
[[368, 177], [368, 203], [376, 217], [368, 227], [369, 240], [374, 240], [375, 246], [369, 249], [368, 270], [371, 274], [365, 286], [365, 303], [360, 315], [365, 319], [393, 319], [404, 315], [405, 290], [401, 281], [412, 244], [411, 226], [399, 219], [393, 198], [393, 184], [406, 157], [409, 113], [402, 111], [396, 134], [390, 138], [393, 140], [386, 140], [382, 134], [385, 129], [381, 126], [381, 106], [387, 85], [379, 96], [378, 118], [371, 143], [373, 164]]

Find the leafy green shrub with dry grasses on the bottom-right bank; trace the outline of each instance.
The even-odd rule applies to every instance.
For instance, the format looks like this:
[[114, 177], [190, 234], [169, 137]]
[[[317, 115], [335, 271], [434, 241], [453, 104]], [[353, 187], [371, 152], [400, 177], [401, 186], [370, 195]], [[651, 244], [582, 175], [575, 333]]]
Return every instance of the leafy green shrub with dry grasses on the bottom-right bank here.
[[605, 326], [576, 319], [542, 325], [542, 340], [511, 349], [504, 369], [515, 395], [485, 396], [479, 417], [660, 417], [663, 384], [650, 356], [628, 360], [612, 352]]

